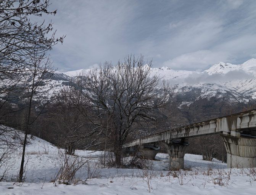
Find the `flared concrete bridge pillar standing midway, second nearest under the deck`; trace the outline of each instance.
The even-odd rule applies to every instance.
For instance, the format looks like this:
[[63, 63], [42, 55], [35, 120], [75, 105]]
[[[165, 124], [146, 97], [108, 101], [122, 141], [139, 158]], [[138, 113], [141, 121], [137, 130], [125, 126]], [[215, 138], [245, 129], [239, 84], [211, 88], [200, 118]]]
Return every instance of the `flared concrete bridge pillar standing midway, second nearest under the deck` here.
[[176, 141], [170, 144], [164, 143], [169, 154], [169, 170], [184, 169], [184, 155], [189, 143]]

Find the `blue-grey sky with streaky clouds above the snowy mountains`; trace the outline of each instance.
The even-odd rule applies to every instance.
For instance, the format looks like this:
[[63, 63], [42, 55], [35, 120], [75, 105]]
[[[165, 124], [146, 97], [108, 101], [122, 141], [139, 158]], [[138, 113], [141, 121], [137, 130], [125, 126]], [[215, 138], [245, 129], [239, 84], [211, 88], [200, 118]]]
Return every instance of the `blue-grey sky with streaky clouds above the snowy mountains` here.
[[154, 67], [205, 70], [256, 58], [255, 0], [51, 0], [64, 43], [50, 52], [66, 72], [115, 64], [128, 54]]

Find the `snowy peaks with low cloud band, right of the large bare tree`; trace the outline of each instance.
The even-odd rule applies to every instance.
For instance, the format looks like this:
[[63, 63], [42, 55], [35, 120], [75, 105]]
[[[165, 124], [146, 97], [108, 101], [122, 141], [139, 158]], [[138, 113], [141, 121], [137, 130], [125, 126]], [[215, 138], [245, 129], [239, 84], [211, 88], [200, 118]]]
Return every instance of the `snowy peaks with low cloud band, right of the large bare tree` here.
[[[169, 70], [169, 71], [168, 71]], [[256, 99], [256, 59], [243, 64], [219, 62], [203, 72], [175, 71], [167, 67], [152, 69], [152, 74], [165, 75], [164, 78], [176, 82], [177, 90], [200, 89], [196, 98], [225, 98], [229, 102], [248, 102]]]

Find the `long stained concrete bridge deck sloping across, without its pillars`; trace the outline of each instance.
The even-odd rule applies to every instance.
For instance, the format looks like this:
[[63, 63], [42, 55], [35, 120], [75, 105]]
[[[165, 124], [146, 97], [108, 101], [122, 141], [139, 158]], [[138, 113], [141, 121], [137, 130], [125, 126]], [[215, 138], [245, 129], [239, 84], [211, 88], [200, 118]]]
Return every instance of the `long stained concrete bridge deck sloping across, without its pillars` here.
[[226, 132], [229, 134], [231, 131], [239, 132], [241, 129], [249, 128], [256, 131], [255, 109], [141, 137], [132, 142], [124, 144], [123, 148], [158, 141], [169, 142], [170, 140], [174, 139], [203, 136], [221, 132]]

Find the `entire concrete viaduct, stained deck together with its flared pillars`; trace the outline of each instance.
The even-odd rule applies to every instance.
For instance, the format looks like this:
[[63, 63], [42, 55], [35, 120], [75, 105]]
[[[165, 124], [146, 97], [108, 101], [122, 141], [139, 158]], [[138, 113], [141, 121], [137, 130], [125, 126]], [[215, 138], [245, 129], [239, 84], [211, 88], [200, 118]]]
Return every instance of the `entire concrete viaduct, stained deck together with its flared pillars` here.
[[[228, 168], [256, 167], [256, 110], [183, 126], [141, 137], [123, 145], [123, 148], [139, 146], [145, 158], [155, 158], [153, 145], [164, 142], [169, 154], [169, 169], [184, 168], [188, 137], [221, 134], [227, 150]], [[203, 147], [203, 146], [200, 146]]]

